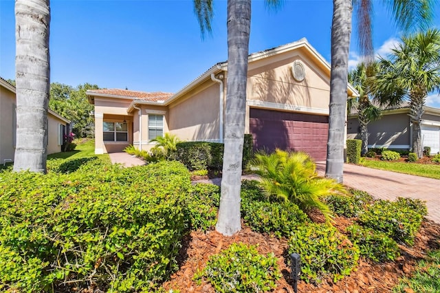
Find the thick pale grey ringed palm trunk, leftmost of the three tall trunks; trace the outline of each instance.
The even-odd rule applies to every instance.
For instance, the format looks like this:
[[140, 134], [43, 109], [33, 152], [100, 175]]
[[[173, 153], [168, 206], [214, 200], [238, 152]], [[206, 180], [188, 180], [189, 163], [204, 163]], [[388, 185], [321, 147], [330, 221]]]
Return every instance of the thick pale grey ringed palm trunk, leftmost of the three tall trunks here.
[[15, 2], [17, 143], [14, 171], [46, 172], [50, 0]]

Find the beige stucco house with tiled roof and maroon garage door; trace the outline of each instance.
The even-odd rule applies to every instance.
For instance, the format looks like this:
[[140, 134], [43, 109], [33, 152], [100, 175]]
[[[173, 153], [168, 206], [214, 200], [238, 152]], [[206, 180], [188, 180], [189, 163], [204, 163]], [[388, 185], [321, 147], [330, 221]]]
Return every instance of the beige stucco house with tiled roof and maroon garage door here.
[[[169, 132], [180, 140], [223, 142], [228, 63], [217, 63], [176, 94], [87, 91], [95, 105], [96, 153], [122, 151]], [[250, 54], [245, 133], [255, 149], [306, 151], [325, 160], [330, 66], [306, 39]], [[348, 96], [358, 93], [349, 86]]]

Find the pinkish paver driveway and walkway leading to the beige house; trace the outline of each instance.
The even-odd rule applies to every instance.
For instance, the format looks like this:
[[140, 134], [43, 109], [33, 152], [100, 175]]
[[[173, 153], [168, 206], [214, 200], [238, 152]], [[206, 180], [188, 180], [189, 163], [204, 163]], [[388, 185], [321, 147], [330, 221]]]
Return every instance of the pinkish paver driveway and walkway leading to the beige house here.
[[[128, 153], [109, 153], [113, 164], [125, 166], [144, 165], [145, 162]], [[325, 162], [317, 162], [318, 174], [324, 176]], [[257, 180], [256, 175], [245, 175], [243, 179]], [[220, 185], [221, 179], [201, 180]], [[391, 171], [344, 164], [344, 185], [366, 191], [377, 199], [394, 200], [396, 197], [412, 197], [426, 201], [428, 219], [440, 223], [440, 180]]]

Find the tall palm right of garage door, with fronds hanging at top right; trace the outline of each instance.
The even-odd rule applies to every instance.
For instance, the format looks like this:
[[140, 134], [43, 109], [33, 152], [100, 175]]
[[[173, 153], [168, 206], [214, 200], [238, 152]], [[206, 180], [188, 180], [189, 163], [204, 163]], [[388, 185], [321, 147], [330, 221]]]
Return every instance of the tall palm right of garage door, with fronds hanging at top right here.
[[[371, 39], [371, 0], [354, 0], [358, 16], [361, 53], [366, 63], [373, 60]], [[430, 23], [436, 0], [383, 1], [389, 6], [397, 27], [406, 31], [426, 28]], [[325, 175], [338, 182], [343, 181], [344, 124], [347, 100], [349, 41], [351, 35], [352, 0], [333, 0], [331, 24], [331, 74], [329, 104], [329, 138], [327, 141], [327, 164]]]

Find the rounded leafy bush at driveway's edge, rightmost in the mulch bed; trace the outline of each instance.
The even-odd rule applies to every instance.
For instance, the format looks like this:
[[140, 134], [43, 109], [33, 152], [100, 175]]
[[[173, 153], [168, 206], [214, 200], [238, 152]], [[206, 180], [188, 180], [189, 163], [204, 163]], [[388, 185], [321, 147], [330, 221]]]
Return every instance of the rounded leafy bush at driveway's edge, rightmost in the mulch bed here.
[[363, 226], [382, 231], [395, 241], [412, 245], [423, 216], [404, 201], [377, 200], [359, 216]]

